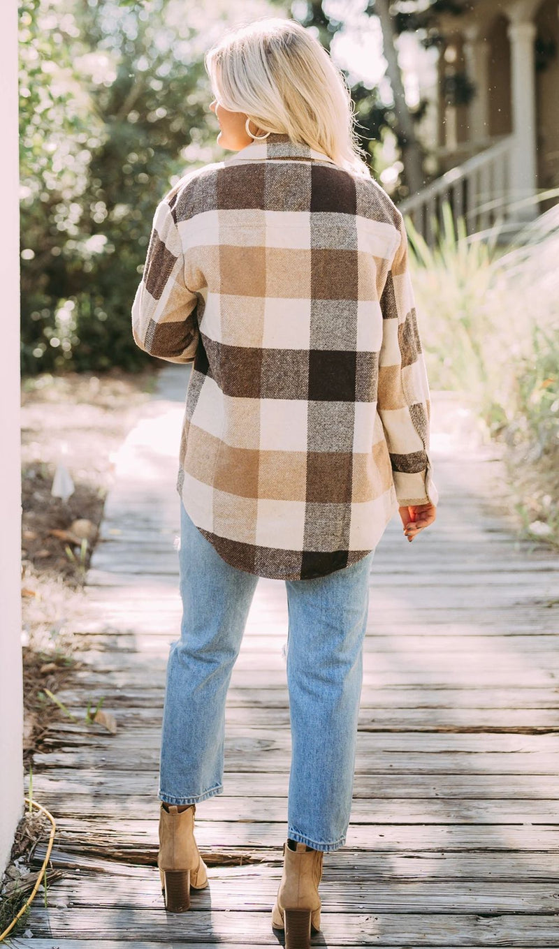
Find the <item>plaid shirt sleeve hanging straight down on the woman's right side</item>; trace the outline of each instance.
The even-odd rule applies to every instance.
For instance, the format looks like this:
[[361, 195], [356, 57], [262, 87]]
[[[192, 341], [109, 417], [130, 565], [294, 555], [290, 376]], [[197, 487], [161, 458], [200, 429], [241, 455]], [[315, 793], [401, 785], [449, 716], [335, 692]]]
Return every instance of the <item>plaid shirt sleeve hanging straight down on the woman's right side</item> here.
[[400, 507], [438, 504], [429, 455], [431, 401], [400, 215], [400, 243], [381, 297], [382, 345], [377, 410]]

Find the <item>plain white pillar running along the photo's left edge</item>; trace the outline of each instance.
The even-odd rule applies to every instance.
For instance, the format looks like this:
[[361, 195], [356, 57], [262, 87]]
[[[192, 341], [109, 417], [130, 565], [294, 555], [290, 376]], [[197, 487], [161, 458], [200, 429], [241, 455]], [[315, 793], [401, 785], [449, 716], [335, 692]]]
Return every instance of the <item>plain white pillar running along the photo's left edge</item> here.
[[0, 177], [2, 372], [0, 413], [0, 873], [9, 861], [24, 806], [23, 685], [21, 648], [21, 461], [19, 333], [19, 177], [17, 124], [17, 0], [0, 3], [0, 112], [3, 141]]

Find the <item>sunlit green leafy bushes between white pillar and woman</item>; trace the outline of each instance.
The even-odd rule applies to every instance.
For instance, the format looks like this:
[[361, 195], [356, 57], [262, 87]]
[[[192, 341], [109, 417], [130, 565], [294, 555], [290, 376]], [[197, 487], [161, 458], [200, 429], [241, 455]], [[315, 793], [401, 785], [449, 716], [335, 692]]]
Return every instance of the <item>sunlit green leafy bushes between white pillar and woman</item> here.
[[168, 0], [21, 0], [24, 373], [145, 364], [130, 308], [153, 214], [183, 150], [204, 153], [211, 99], [172, 15]]

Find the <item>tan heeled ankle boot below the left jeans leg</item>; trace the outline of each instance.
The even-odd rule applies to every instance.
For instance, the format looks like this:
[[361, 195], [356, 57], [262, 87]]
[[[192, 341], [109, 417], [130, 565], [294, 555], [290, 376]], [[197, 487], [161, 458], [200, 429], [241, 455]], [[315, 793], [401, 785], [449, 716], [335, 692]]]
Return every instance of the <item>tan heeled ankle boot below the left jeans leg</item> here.
[[158, 867], [165, 909], [184, 913], [190, 908], [190, 887], [204, 889], [208, 885], [207, 866], [196, 846], [194, 823], [196, 804], [178, 810], [161, 801], [159, 807]]

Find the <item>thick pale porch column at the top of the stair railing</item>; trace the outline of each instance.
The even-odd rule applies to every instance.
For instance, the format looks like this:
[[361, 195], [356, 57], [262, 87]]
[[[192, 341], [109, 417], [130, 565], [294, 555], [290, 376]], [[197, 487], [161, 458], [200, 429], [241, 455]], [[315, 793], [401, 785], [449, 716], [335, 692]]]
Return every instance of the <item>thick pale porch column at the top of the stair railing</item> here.
[[[536, 111], [534, 39], [536, 27], [526, 20], [513, 20], [509, 26], [512, 69], [512, 200], [535, 195]], [[515, 209], [512, 217], [531, 220], [538, 214], [537, 204]]]

